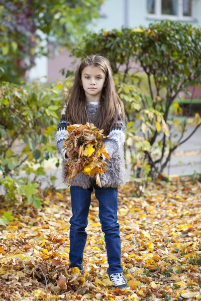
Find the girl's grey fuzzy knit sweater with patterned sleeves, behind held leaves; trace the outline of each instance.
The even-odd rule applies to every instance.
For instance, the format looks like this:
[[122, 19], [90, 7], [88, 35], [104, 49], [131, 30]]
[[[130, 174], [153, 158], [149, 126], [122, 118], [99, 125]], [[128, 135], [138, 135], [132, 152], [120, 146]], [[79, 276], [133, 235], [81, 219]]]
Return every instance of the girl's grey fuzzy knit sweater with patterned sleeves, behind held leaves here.
[[[99, 109], [99, 102], [98, 103], [90, 103], [85, 101], [85, 106], [89, 118], [89, 122], [93, 123], [93, 116], [96, 113], [96, 110]], [[64, 180], [64, 173], [65, 173], [65, 165], [64, 162], [69, 160], [66, 157], [66, 147], [63, 148], [63, 141], [66, 139], [66, 134], [68, 131], [66, 130], [66, 122], [65, 122], [65, 110], [66, 104], [64, 105], [62, 112], [61, 112], [61, 119], [57, 126], [57, 132], [55, 135], [55, 144], [58, 149], [59, 154], [62, 158], [62, 179]], [[125, 143], [125, 134], [126, 134], [126, 126], [123, 120], [119, 117], [121, 125], [115, 126], [111, 128], [109, 132], [109, 137], [105, 138], [103, 144], [106, 144], [106, 152], [109, 154], [111, 161], [107, 161], [108, 165], [106, 166], [107, 171], [103, 175], [99, 175], [100, 183], [103, 188], [105, 187], [119, 187], [124, 186], [127, 181], [126, 177], [126, 168], [125, 168], [125, 157], [123, 155], [123, 145]], [[69, 125], [69, 123], [68, 123]], [[91, 185], [91, 181], [95, 179], [95, 176], [90, 177], [85, 175], [84, 173], [79, 173], [75, 176], [73, 181], [71, 182], [72, 186], [79, 186], [84, 189], [87, 189]], [[64, 182], [67, 186], [68, 184], [68, 177]]]

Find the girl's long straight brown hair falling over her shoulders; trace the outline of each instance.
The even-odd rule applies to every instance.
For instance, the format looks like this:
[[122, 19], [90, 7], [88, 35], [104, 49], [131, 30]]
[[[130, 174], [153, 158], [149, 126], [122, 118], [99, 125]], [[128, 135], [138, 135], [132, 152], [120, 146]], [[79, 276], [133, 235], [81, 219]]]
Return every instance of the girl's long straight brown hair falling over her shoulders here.
[[104, 134], [108, 135], [110, 129], [117, 126], [118, 117], [121, 117], [125, 123], [125, 109], [123, 101], [117, 94], [111, 64], [106, 57], [90, 55], [81, 62], [73, 75], [73, 84], [65, 98], [65, 119], [68, 124], [85, 124], [88, 121], [84, 104], [86, 97], [81, 84], [81, 73], [87, 66], [101, 68], [106, 76], [99, 100], [100, 107], [93, 118], [93, 124], [98, 128], [104, 128]]

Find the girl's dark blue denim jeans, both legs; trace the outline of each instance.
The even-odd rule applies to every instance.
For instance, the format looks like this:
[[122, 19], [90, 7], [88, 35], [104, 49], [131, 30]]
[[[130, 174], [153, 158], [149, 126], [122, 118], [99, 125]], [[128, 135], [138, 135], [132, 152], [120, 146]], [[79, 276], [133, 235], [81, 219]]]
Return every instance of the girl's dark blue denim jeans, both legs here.
[[108, 255], [108, 274], [122, 273], [121, 265], [121, 237], [118, 216], [118, 188], [100, 188], [91, 182], [88, 189], [78, 186], [70, 186], [72, 217], [70, 218], [70, 267], [83, 269], [83, 252], [87, 233], [88, 211], [91, 202], [91, 192], [95, 190], [95, 197], [99, 202], [98, 217], [105, 233], [105, 241]]

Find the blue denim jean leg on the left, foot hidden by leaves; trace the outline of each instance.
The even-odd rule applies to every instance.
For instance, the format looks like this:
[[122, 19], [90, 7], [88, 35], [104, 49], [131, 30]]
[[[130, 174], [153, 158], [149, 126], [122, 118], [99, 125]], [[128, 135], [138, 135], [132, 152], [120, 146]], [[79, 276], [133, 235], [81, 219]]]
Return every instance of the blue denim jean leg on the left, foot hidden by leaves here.
[[72, 217], [70, 223], [70, 267], [83, 269], [83, 252], [87, 233], [85, 228], [88, 224], [88, 211], [91, 202], [93, 188], [83, 189], [78, 186], [70, 186]]

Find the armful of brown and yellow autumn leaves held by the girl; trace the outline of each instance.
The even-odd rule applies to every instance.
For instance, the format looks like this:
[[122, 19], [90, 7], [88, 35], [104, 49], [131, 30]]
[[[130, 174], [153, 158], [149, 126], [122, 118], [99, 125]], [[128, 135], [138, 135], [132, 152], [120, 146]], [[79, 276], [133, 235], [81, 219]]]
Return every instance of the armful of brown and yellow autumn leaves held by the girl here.
[[93, 123], [72, 124], [67, 126], [68, 134], [63, 142], [66, 147], [66, 156], [69, 158], [65, 165], [64, 181], [68, 177], [70, 184], [78, 173], [94, 176], [96, 184], [100, 184], [99, 174], [107, 171], [107, 162], [103, 156], [110, 161], [110, 156], [106, 152], [106, 145], [103, 140], [108, 136], [103, 134], [104, 129], [98, 129]]

